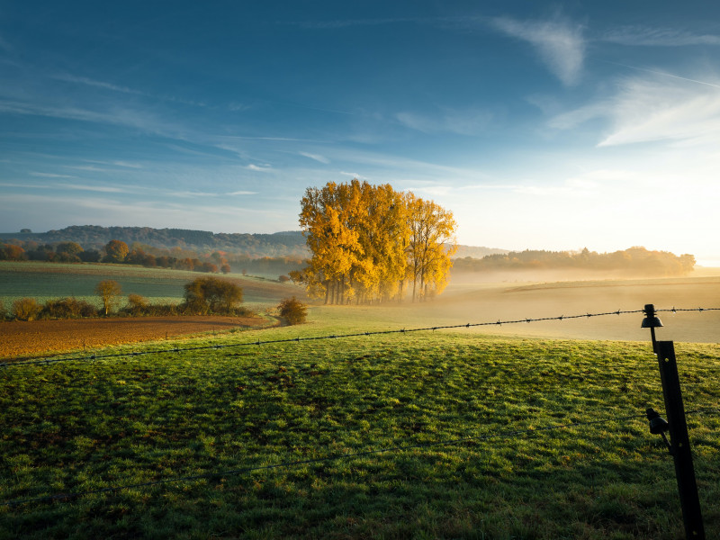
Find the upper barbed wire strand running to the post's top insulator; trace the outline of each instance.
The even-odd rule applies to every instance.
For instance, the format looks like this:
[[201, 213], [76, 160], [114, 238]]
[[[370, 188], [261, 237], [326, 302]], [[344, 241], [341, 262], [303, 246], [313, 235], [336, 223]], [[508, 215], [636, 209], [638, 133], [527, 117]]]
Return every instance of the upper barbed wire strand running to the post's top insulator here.
[[[672, 312], [678, 312], [678, 311], [720, 311], [720, 308], [698, 308], [698, 309], [676, 309], [671, 308], [667, 310], [656, 310], [656, 311], [672, 311]], [[475, 323], [466, 323], [466, 324], [454, 324], [454, 325], [438, 325], [433, 327], [421, 327], [421, 328], [415, 328], [415, 329], [392, 329], [392, 330], [368, 330], [365, 332], [354, 332], [349, 334], [333, 334], [329, 336], [314, 336], [314, 337], [295, 337], [295, 338], [285, 338], [285, 339], [269, 339], [266, 341], [262, 341], [260, 339], [257, 339], [256, 341], [251, 342], [245, 342], [245, 343], [231, 343], [226, 345], [206, 345], [201, 347], [174, 347], [174, 348], [168, 348], [168, 349], [153, 349], [153, 350], [146, 350], [146, 351], [135, 351], [135, 352], [128, 352], [128, 353], [112, 353], [107, 355], [89, 355], [89, 356], [71, 356], [71, 357], [64, 357], [64, 358], [48, 358], [48, 357], [33, 357], [27, 360], [19, 361], [19, 362], [4, 362], [0, 363], [0, 367], [16, 367], [21, 365], [49, 365], [49, 364], [57, 364], [58, 362], [77, 362], [77, 361], [84, 361], [84, 360], [103, 360], [107, 358], [118, 358], [121, 356], [146, 356], [146, 355], [157, 355], [157, 354], [163, 354], [163, 353], [180, 353], [180, 352], [193, 352], [193, 351], [201, 351], [201, 350], [211, 350], [211, 349], [223, 349], [223, 348], [231, 348], [231, 347], [251, 347], [251, 346], [260, 346], [260, 345], [271, 345], [271, 344], [280, 344], [280, 343], [297, 343], [300, 341], [318, 341], [322, 339], [338, 339], [338, 338], [358, 338], [358, 337], [364, 337], [364, 336], [380, 336], [380, 335], [388, 335], [388, 334], [408, 334], [413, 332], [427, 332], [427, 331], [434, 331], [434, 330], [445, 330], [445, 329], [469, 329], [473, 327], [482, 327], [482, 326], [502, 326], [503, 324], [518, 324], [518, 323], [530, 323], [530, 322], [540, 322], [540, 321], [546, 321], [546, 320], [572, 320], [572, 319], [585, 319], [585, 318], [592, 318], [592, 317], [605, 317], [608, 315], [625, 315], [628, 313], [643, 313], [644, 310], [631, 310], [631, 311], [606, 311], [602, 313], [584, 313], [580, 315], [560, 315], [556, 317], [540, 317], [540, 318], [527, 318], [527, 319], [517, 319], [517, 320], [497, 320], [495, 322], [475, 322]]]

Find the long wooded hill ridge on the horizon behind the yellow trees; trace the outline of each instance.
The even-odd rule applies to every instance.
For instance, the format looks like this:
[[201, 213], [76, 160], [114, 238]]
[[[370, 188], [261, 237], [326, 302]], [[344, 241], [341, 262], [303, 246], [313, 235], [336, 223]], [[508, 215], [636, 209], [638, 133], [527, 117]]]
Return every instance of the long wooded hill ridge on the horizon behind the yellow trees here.
[[[305, 238], [300, 230], [285, 230], [273, 234], [213, 233], [209, 230], [153, 229], [151, 227], [100, 227], [99, 225], [72, 225], [65, 229], [47, 232], [0, 233], [0, 242], [13, 238], [35, 241], [40, 244], [77, 242], [85, 249], [100, 249], [110, 240], [171, 249], [182, 247], [200, 253], [228, 251], [257, 257], [310, 257]], [[482, 258], [486, 255], [508, 253], [507, 249], [458, 246], [455, 258]]]

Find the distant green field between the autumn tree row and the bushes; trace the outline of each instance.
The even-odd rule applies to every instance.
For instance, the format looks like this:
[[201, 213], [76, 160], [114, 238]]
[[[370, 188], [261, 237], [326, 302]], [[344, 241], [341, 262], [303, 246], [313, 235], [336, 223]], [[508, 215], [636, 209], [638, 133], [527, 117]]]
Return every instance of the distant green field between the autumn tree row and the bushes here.
[[[65, 298], [95, 302], [99, 306], [94, 287], [103, 279], [121, 284], [122, 294], [145, 296], [152, 303], [179, 303], [183, 300], [184, 284], [202, 275], [184, 270], [143, 268], [127, 265], [67, 265], [25, 261], [0, 261], [0, 302], [9, 308], [18, 298], [31, 297], [40, 302]], [[243, 288], [244, 302], [265, 305], [302, 290], [292, 284], [229, 274], [223, 277], [238, 281]]]

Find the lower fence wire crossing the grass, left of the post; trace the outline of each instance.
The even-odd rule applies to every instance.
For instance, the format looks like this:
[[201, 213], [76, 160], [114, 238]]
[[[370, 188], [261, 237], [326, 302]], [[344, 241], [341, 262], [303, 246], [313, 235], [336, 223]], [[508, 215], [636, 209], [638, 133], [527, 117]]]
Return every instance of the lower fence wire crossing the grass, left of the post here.
[[193, 474], [190, 476], [176, 476], [173, 478], [164, 478], [150, 482], [140, 482], [134, 484], [125, 484], [121, 486], [109, 486], [98, 490], [88, 491], [75, 491], [70, 493], [55, 493], [53, 495], [44, 495], [40, 497], [33, 497], [30, 499], [19, 499], [19, 500], [5, 500], [0, 502], [0, 506], [17, 507], [23, 504], [29, 504], [32, 502], [67, 502], [69, 500], [78, 499], [85, 497], [86, 495], [97, 495], [100, 493], [112, 493], [116, 491], [132, 490], [137, 488], [147, 488], [151, 486], [177, 483], [177, 482], [193, 482], [195, 480], [205, 480], [210, 478], [218, 478], [223, 476], [237, 476], [238, 474], [253, 473], [257, 471], [268, 471], [273, 469], [297, 467], [306, 464], [320, 464], [334, 462], [343, 459], [350, 459], [356, 457], [364, 457], [367, 455], [379, 455], [388, 452], [403, 452], [406, 450], [417, 450], [421, 448], [432, 448], [437, 446], [456, 446], [462, 445], [469, 442], [481, 442], [495, 438], [519, 438], [521, 436], [535, 435], [537, 433], [544, 433], [548, 431], [554, 431], [555, 429], [566, 429], [566, 428], [578, 428], [581, 426], [595, 426], [599, 424], [608, 424], [609, 422], [625, 421], [630, 419], [644, 419], [645, 414], [633, 414], [625, 417], [611, 417], [601, 420], [590, 420], [583, 422], [570, 422], [567, 424], [554, 424], [551, 426], [545, 426], [543, 428], [527, 428], [527, 429], [516, 429], [511, 431], [500, 431], [498, 433], [491, 433], [488, 435], [472, 436], [472, 437], [459, 437], [455, 439], [446, 439], [441, 441], [435, 441], [431, 443], [418, 443], [414, 445], [395, 445], [385, 446], [383, 448], [376, 448], [374, 450], [365, 450], [361, 452], [353, 452], [350, 454], [336, 454], [325, 457], [315, 457], [311, 459], [304, 459], [300, 461], [285, 461], [279, 464], [270, 465], [258, 465], [256, 467], [244, 467], [240, 469], [229, 469], [225, 471], [214, 471], [211, 473]]

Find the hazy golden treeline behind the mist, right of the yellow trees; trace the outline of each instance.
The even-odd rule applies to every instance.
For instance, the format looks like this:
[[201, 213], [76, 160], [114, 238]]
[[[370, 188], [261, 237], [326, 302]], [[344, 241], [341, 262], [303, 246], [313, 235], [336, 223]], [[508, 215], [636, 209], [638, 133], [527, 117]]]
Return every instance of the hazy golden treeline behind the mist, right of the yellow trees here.
[[630, 247], [612, 253], [597, 253], [586, 247], [580, 253], [570, 251], [513, 251], [475, 259], [455, 259], [453, 272], [491, 272], [514, 270], [579, 269], [616, 272], [625, 275], [685, 275], [695, 266], [695, 257], [674, 255], [668, 251], [650, 251]]

